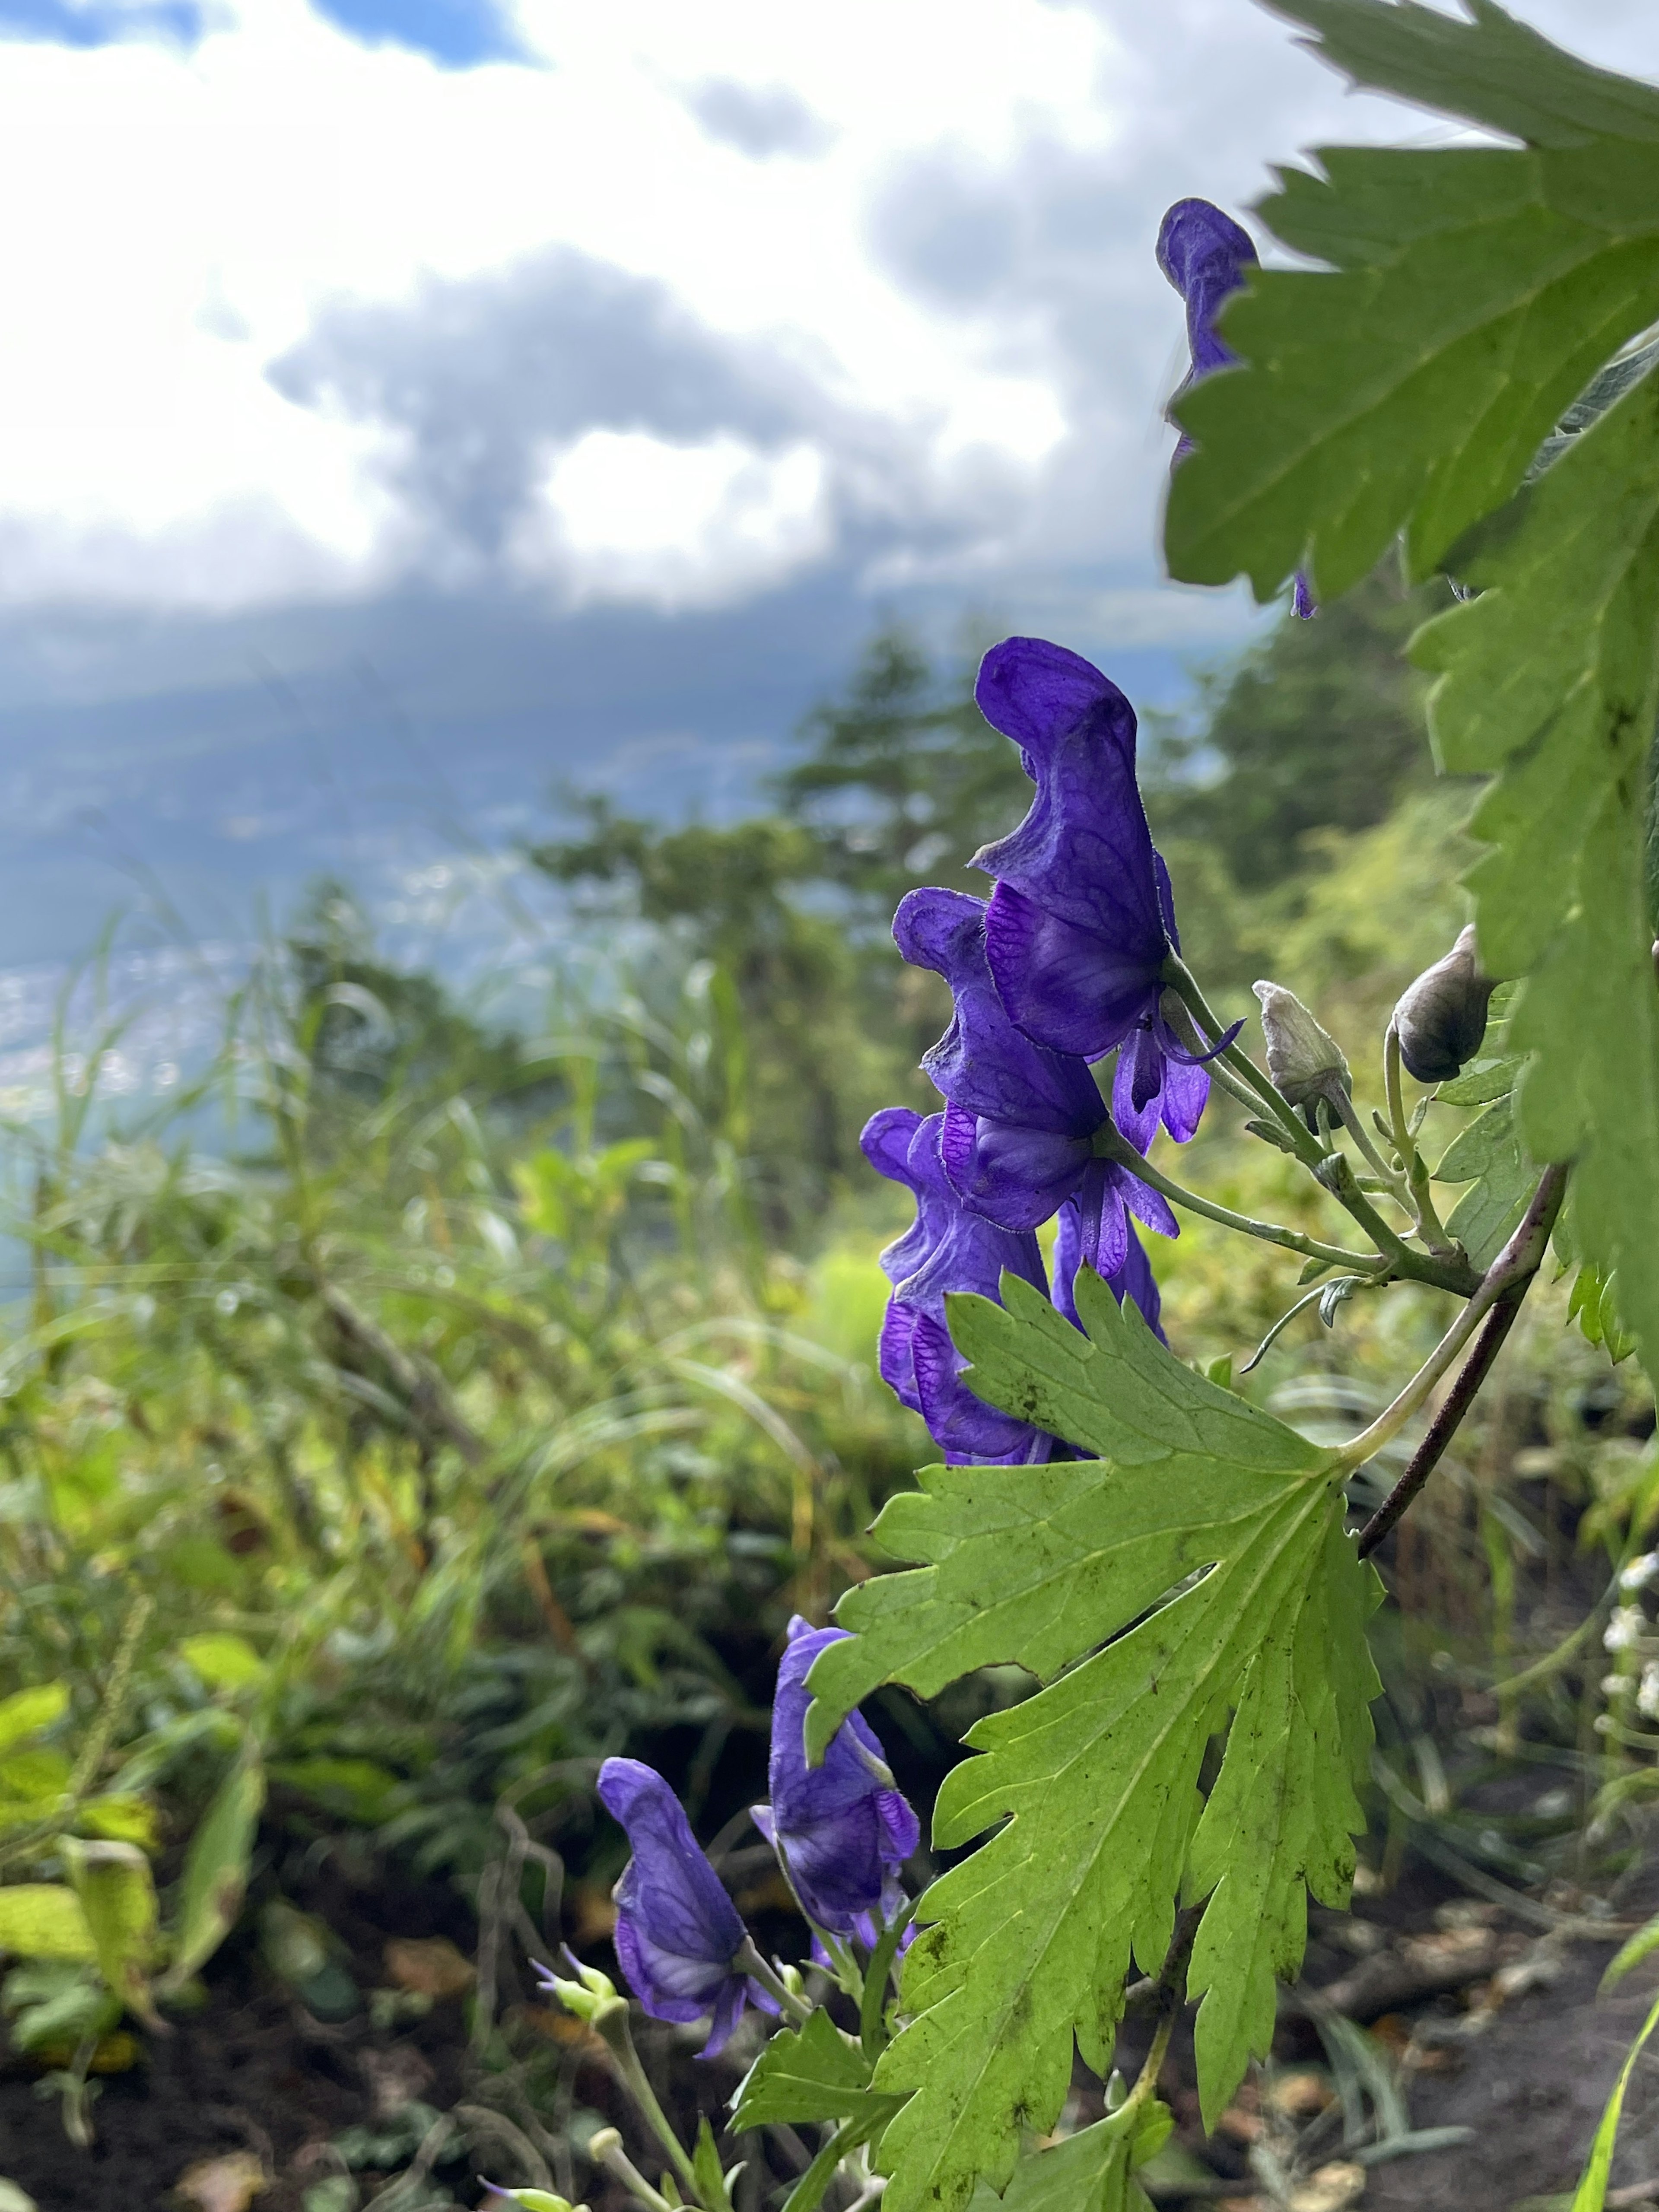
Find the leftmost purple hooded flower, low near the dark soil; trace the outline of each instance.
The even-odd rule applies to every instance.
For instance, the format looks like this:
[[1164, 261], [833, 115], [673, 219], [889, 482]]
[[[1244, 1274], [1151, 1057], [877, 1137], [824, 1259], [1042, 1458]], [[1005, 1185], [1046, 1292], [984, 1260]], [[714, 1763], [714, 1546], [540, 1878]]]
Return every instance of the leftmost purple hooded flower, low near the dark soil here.
[[748, 1940], [737, 1907], [655, 1767], [637, 1759], [606, 1759], [599, 1801], [633, 1845], [615, 1887], [615, 1947], [628, 1989], [653, 2020], [684, 2024], [712, 2013], [703, 2057], [714, 2057], [745, 2000], [776, 2008], [737, 1971], [737, 1953]]

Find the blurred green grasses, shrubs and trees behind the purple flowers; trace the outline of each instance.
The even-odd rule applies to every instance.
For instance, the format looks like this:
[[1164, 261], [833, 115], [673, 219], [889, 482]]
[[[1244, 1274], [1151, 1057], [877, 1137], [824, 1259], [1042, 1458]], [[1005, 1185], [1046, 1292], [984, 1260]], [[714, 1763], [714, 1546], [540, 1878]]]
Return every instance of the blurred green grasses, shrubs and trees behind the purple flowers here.
[[[1398, 661], [1420, 599], [1374, 577], [1148, 732], [1190, 964], [1232, 1013], [1256, 975], [1296, 987], [1363, 1088], [1464, 918], [1469, 794], [1436, 781]], [[55, 1119], [7, 1144], [31, 1296], [0, 1338], [0, 1940], [24, 1958], [0, 2006], [71, 2139], [155, 2022], [237, 1973], [323, 2024], [465, 2000], [456, 2093], [522, 2179], [571, 2185], [580, 2051], [529, 1964], [560, 1938], [604, 1955], [597, 1761], [661, 1765], [741, 1867], [783, 1624], [878, 1564], [863, 1531], [929, 1455], [874, 1378], [900, 1217], [856, 1137], [927, 1104], [947, 1002], [887, 922], [914, 883], [982, 887], [967, 856], [1026, 792], [971, 655], [883, 633], [768, 812], [668, 827], [580, 801], [535, 847], [637, 951], [564, 973], [533, 1035], [394, 969], [321, 885], [166, 1108], [102, 1099], [115, 1031], [62, 1040]], [[1223, 1099], [1183, 1179], [1305, 1219]], [[1252, 1250], [1194, 1223], [1155, 1252], [1181, 1356], [1243, 1367], [1294, 1301]], [[1431, 1294], [1329, 1329], [1310, 1310], [1241, 1387], [1354, 1422], [1440, 1323]], [[1632, 1851], [1652, 1739], [1599, 1628], [1655, 1515], [1650, 1431], [1635, 1367], [1537, 1296], [1391, 1566], [1380, 1882], [1416, 1847], [1577, 1896]], [[927, 1798], [975, 1701], [1011, 1694], [894, 1699], [907, 1787]], [[1542, 1785], [1493, 1809], [1495, 1778], [1542, 1770], [1546, 1809]], [[135, 1885], [119, 1955], [40, 1918], [46, 1889], [91, 1896], [93, 1845]], [[447, 1991], [438, 1953], [372, 1986], [374, 1898], [451, 1944]], [[781, 1893], [750, 1905], [801, 1949]], [[405, 2108], [414, 2132], [338, 2139], [310, 2212], [456, 2201], [438, 2150], [416, 2172], [442, 2112]]]

